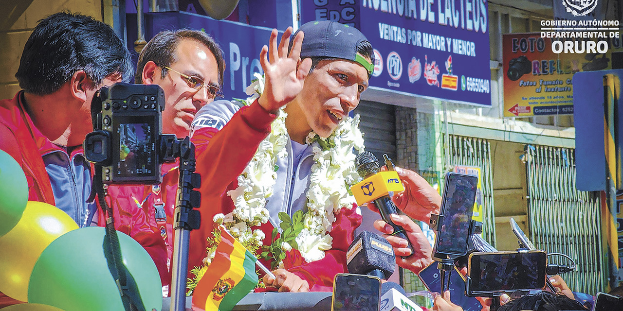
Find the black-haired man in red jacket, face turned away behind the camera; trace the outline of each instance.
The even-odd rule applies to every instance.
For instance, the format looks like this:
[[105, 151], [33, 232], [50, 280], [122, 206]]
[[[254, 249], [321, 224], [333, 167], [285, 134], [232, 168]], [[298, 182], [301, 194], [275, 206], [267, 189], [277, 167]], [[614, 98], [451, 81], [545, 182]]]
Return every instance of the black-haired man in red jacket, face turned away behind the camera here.
[[[87, 202], [91, 167], [82, 141], [92, 131], [91, 100], [100, 87], [127, 80], [131, 70], [130, 52], [110, 26], [61, 12], [34, 28], [16, 73], [22, 91], [0, 101], [0, 149], [24, 170], [29, 200], [60, 208], [81, 228], [103, 218]], [[161, 277], [166, 274], [164, 243], [140, 208], [115, 210], [115, 226], [143, 245]], [[0, 307], [16, 303], [0, 294]]]

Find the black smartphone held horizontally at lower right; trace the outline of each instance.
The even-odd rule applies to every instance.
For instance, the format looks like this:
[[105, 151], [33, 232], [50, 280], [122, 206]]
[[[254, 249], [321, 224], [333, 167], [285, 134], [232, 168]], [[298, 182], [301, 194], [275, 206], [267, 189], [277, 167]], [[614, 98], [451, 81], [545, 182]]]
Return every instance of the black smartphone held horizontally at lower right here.
[[543, 289], [544, 251], [473, 253], [469, 259], [470, 293]]

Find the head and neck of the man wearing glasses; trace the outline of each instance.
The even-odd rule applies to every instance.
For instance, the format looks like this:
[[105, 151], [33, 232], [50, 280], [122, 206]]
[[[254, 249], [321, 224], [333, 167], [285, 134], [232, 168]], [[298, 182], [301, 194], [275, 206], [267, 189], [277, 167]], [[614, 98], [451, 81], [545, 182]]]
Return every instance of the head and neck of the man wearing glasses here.
[[186, 137], [194, 115], [221, 95], [225, 61], [205, 32], [180, 29], [156, 34], [138, 58], [137, 84], [164, 90], [163, 132]]

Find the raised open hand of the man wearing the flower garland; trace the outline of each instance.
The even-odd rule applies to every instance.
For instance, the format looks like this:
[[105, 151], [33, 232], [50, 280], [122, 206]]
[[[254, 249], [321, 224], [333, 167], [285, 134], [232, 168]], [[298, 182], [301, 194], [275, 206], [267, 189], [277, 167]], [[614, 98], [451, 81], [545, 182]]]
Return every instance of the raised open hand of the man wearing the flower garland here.
[[288, 55], [292, 31], [292, 27], [288, 27], [277, 46], [277, 29], [273, 29], [270, 33], [269, 47], [264, 45], [260, 52], [260, 63], [264, 69], [266, 81], [264, 92], [258, 101], [264, 109], [272, 113], [292, 101], [303, 90], [305, 77], [312, 68], [310, 58], [305, 58], [301, 62], [300, 54], [304, 35], [302, 31], [294, 37], [292, 50]]

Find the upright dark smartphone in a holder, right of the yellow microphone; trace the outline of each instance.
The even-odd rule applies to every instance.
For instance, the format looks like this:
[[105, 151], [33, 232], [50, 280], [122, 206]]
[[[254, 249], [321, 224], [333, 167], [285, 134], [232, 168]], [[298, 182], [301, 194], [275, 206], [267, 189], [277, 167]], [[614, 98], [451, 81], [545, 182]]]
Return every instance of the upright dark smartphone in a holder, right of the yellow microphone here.
[[478, 177], [449, 173], [435, 243], [435, 253], [463, 256], [467, 253], [469, 225], [472, 221], [473, 203], [476, 198]]

